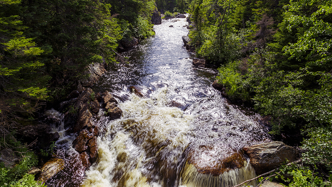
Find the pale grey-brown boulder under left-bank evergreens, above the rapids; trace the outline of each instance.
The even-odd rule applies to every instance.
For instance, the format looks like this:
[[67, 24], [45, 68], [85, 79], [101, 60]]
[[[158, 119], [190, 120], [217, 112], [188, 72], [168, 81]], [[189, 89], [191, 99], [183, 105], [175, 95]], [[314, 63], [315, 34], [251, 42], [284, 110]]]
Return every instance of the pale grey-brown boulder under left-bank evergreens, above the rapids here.
[[83, 79], [82, 86], [84, 87], [91, 87], [93, 86], [99, 78], [106, 73], [106, 61], [103, 61], [102, 63], [92, 63], [88, 65], [87, 70], [84, 72], [84, 74], [89, 75], [88, 78]]

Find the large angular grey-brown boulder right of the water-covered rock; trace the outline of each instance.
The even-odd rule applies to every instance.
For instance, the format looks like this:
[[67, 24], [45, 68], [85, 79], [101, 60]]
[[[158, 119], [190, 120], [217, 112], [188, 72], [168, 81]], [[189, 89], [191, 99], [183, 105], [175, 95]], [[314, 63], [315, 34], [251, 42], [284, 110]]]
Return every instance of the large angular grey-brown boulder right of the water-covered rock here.
[[244, 152], [248, 154], [257, 175], [279, 167], [286, 159], [294, 161], [297, 154], [296, 149], [280, 141], [248, 146]]

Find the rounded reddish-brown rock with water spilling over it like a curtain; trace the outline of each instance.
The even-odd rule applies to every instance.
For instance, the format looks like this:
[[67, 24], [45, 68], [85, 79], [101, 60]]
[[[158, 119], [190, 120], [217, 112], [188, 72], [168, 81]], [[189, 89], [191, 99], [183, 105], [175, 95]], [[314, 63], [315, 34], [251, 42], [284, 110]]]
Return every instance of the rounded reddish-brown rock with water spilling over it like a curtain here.
[[[227, 150], [219, 145], [189, 145], [181, 171], [182, 185], [234, 186], [256, 176], [242, 152], [225, 148]], [[255, 186], [255, 182], [249, 185]]]

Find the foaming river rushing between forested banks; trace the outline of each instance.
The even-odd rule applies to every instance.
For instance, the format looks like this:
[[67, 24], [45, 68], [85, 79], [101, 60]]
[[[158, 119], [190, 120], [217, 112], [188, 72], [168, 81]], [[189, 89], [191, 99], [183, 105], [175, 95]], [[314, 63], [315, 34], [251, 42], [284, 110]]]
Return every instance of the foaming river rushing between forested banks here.
[[155, 25], [156, 36], [123, 52], [128, 63], [112, 65], [94, 87], [118, 99], [123, 117], [100, 111], [94, 119], [99, 157], [82, 186], [226, 187], [255, 176], [242, 148], [267, 140], [266, 130], [259, 115], [211, 86], [216, 69], [192, 65], [182, 42], [187, 24]]

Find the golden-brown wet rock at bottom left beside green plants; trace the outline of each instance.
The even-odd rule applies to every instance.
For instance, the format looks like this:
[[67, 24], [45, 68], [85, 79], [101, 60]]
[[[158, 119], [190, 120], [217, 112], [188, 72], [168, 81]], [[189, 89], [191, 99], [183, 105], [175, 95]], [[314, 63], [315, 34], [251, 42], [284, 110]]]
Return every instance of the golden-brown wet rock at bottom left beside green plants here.
[[41, 174], [39, 180], [42, 182], [47, 181], [59, 171], [63, 170], [65, 163], [62, 159], [51, 158], [41, 168]]

